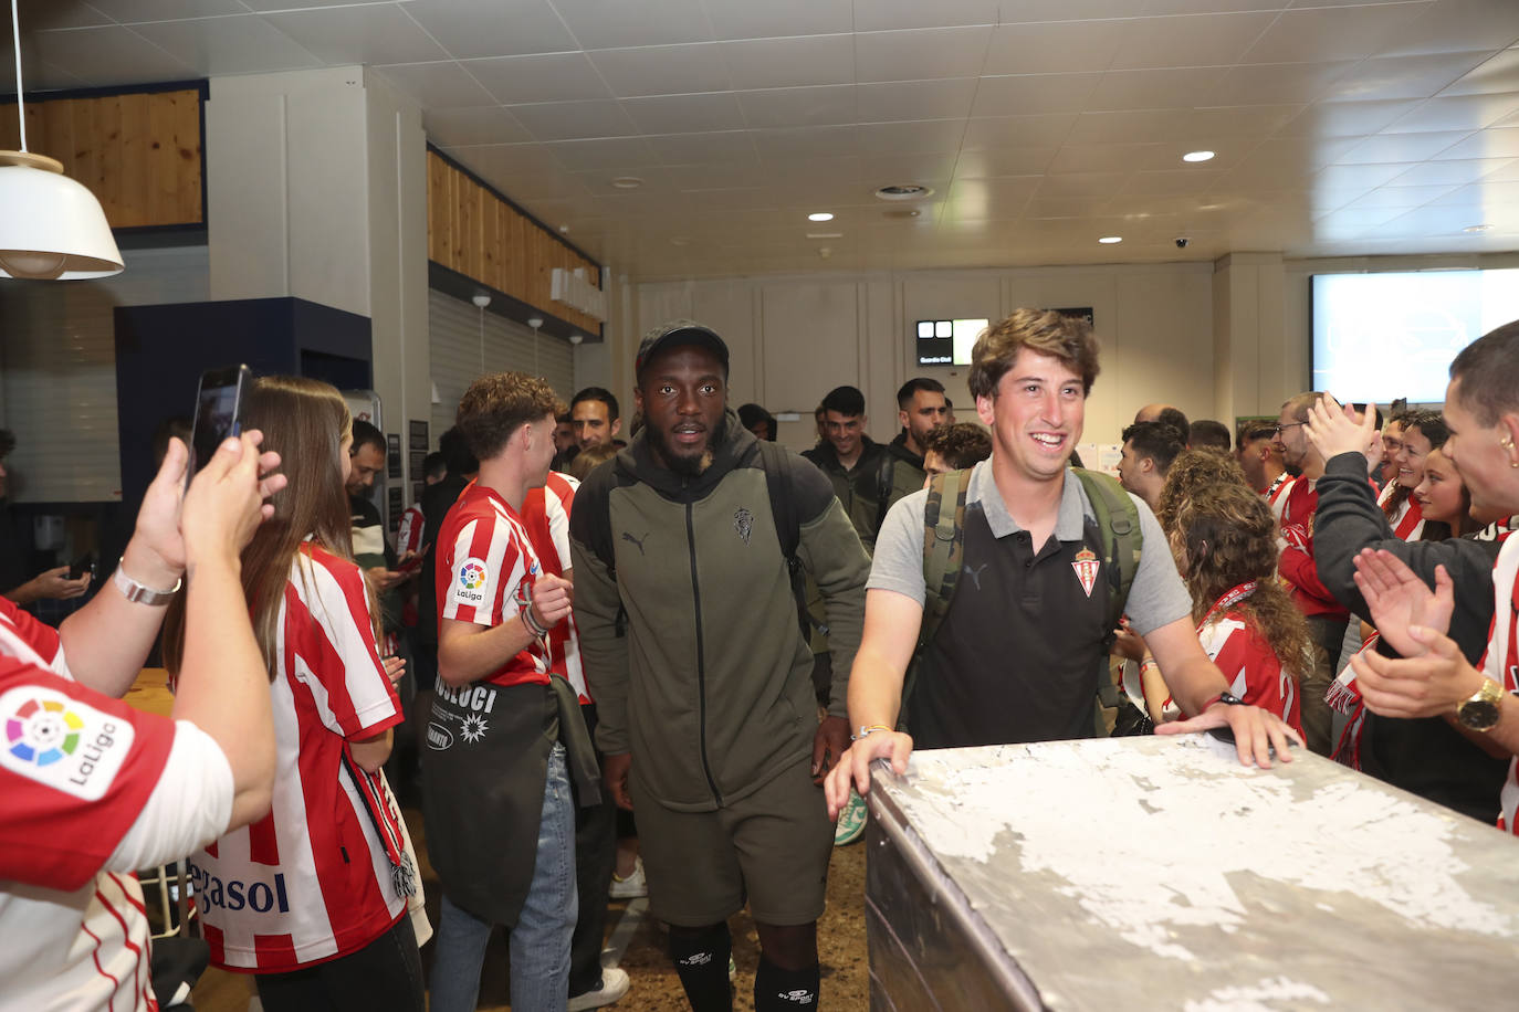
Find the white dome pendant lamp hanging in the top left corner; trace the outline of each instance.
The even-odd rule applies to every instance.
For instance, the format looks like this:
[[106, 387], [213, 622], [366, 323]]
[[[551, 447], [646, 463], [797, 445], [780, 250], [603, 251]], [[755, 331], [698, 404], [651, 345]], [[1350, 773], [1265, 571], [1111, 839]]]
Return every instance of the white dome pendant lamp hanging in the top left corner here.
[[15, 36], [15, 108], [21, 150], [0, 152], [0, 278], [73, 281], [122, 273], [122, 252], [100, 202], [46, 155], [26, 150], [21, 88], [21, 27], [11, 0]]

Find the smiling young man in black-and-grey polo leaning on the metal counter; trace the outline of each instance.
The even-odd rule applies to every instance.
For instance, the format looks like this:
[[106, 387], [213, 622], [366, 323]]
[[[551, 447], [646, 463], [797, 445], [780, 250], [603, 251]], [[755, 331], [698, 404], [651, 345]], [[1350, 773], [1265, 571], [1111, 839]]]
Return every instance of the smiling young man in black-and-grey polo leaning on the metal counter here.
[[[965, 572], [922, 658], [908, 707], [911, 736], [895, 731], [902, 677], [917, 643], [924, 586], [927, 492], [892, 508], [866, 584], [864, 637], [849, 677], [857, 740], [828, 777], [829, 810], [851, 781], [869, 787], [869, 763], [889, 757], [899, 772], [924, 748], [1085, 737], [1104, 651], [1100, 531], [1082, 482], [1069, 472], [1082, 438], [1086, 396], [1097, 376], [1097, 341], [1086, 323], [1018, 310], [975, 344], [971, 393], [992, 429], [992, 458], [966, 490]], [[1227, 724], [1240, 760], [1287, 760], [1290, 737], [1276, 716], [1243, 706], [1208, 660], [1192, 628], [1191, 601], [1150, 508], [1136, 499], [1144, 552], [1127, 599], [1135, 630], [1154, 652], [1191, 721], [1167, 731]], [[1097, 563], [1100, 566], [1100, 563]]]

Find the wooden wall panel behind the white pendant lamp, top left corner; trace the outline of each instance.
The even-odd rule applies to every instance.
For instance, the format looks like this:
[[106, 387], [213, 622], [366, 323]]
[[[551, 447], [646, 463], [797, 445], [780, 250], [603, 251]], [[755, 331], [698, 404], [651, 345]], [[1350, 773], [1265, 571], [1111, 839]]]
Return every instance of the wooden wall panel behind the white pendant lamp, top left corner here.
[[[15, 103], [0, 103], [0, 147], [20, 141]], [[88, 187], [111, 228], [204, 223], [196, 90], [29, 102], [26, 141]]]

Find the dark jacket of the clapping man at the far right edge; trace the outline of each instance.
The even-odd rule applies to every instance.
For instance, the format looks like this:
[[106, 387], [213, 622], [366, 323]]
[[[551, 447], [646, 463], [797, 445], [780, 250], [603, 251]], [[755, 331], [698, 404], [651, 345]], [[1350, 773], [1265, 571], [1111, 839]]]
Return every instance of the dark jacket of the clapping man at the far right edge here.
[[[1435, 566], [1451, 574], [1455, 613], [1451, 639], [1473, 665], [1487, 648], [1493, 619], [1493, 563], [1499, 543], [1480, 536], [1445, 542], [1404, 542], [1393, 537], [1376, 492], [1366, 481], [1366, 457], [1340, 454], [1318, 479], [1314, 513], [1314, 558], [1318, 580], [1352, 613], [1372, 621], [1366, 598], [1355, 586], [1355, 557], [1363, 548], [1382, 548], [1434, 586]], [[1384, 642], [1379, 652], [1397, 654]], [[1445, 718], [1405, 721], [1366, 715], [1361, 768], [1378, 780], [1422, 798], [1492, 822], [1508, 762], [1493, 759], [1467, 740]]]

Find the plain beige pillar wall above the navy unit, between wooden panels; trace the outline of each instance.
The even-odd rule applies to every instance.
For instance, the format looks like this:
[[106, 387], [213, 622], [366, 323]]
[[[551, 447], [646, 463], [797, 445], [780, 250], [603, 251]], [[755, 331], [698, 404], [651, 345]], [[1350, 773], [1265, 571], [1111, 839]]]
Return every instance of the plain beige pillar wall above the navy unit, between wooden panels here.
[[217, 77], [205, 124], [211, 299], [296, 296], [369, 317], [383, 428], [404, 446], [406, 422], [431, 414], [421, 111], [337, 67]]

